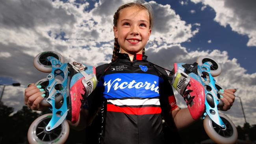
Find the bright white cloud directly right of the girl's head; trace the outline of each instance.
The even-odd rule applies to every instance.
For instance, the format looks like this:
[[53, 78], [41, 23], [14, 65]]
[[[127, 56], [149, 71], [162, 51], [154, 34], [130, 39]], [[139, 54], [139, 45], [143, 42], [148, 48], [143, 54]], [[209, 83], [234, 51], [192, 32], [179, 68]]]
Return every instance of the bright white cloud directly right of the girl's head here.
[[199, 29], [191, 30], [191, 24], [186, 24], [180, 16], [171, 9], [170, 5], [149, 2], [154, 10], [155, 24], [152, 30], [150, 41], [157, 41], [159, 45], [163, 43], [178, 44], [188, 41]]

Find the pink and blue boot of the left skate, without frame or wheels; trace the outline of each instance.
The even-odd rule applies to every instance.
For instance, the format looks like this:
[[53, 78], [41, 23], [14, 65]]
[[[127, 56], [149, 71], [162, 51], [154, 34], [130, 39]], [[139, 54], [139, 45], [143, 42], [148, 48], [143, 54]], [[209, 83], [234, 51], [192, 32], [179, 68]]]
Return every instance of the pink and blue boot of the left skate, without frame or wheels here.
[[85, 98], [96, 88], [96, 70], [94, 66], [87, 66], [80, 63], [69, 63], [70, 99], [68, 103], [67, 119], [73, 124], [77, 122], [80, 109], [85, 103]]

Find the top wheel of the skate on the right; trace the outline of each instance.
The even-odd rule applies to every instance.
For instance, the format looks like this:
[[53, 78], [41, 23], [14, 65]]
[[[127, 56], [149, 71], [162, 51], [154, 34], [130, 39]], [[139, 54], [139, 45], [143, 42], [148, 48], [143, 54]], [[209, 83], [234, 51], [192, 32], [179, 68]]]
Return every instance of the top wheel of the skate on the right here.
[[221, 65], [217, 63], [211, 57], [198, 57], [197, 63], [198, 65], [203, 65], [205, 62], [211, 62], [212, 65], [210, 67], [211, 76], [219, 76], [221, 74]]

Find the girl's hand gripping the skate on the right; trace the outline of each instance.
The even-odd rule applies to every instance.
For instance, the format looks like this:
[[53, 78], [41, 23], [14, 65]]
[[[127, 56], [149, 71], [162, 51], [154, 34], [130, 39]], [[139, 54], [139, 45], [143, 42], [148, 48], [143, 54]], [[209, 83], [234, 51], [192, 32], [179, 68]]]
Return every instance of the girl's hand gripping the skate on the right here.
[[223, 98], [221, 98], [224, 105], [223, 107], [219, 108], [221, 111], [227, 111], [230, 109], [230, 107], [232, 107], [236, 97], [234, 94], [235, 92], [236, 92], [236, 89], [224, 90], [224, 93], [222, 94]]

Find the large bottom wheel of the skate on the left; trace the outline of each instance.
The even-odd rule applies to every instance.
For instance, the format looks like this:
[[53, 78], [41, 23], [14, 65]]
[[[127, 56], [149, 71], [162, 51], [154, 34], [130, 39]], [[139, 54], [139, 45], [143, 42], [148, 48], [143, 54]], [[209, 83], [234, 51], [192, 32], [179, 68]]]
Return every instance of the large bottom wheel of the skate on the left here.
[[45, 127], [50, 122], [52, 114], [44, 114], [35, 119], [28, 129], [28, 142], [30, 144], [63, 144], [69, 136], [69, 124], [64, 120], [52, 131]]

